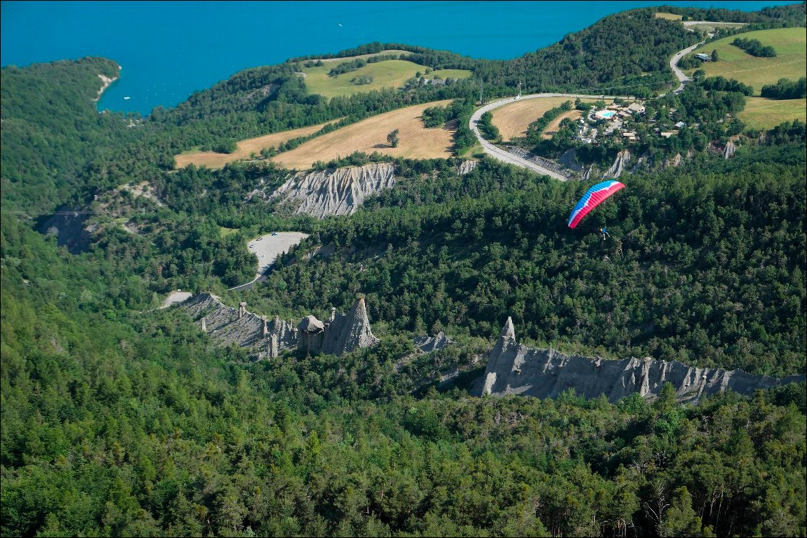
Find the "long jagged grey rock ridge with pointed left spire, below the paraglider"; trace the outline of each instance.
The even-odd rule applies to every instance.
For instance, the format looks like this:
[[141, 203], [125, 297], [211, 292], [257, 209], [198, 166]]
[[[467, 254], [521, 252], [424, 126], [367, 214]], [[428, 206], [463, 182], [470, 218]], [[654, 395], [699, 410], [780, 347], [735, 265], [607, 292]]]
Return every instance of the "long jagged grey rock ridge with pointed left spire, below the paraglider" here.
[[524, 394], [546, 398], [575, 389], [576, 393], [587, 398], [604, 394], [609, 401], [617, 401], [632, 393], [654, 399], [662, 386], [670, 382], [675, 387], [677, 401], [693, 402], [728, 389], [748, 394], [755, 389], [803, 380], [805, 376], [775, 379], [753, 376], [742, 370], [694, 368], [676, 360], [668, 362], [650, 357], [605, 360], [533, 349], [516, 342], [516, 331], [508, 317], [499, 340], [488, 355], [479, 390], [482, 394], [495, 396]]

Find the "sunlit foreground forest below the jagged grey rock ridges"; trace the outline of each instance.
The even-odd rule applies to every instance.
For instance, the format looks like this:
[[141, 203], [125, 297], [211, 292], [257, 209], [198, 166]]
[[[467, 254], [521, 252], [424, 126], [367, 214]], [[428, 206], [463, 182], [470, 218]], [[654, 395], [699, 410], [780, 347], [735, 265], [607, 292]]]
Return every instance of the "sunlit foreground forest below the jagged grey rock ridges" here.
[[102, 260], [2, 239], [3, 536], [805, 533], [804, 386], [416, 399], [402, 343], [248, 365], [179, 312], [106, 308]]

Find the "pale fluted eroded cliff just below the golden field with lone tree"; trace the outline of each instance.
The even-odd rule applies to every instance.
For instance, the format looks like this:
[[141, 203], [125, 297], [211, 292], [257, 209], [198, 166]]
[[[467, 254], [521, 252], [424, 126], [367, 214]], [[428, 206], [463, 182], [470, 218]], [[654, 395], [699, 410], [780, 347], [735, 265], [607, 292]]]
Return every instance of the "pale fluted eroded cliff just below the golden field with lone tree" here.
[[350, 215], [367, 196], [392, 187], [394, 172], [395, 167], [389, 162], [298, 172], [274, 191], [270, 200], [294, 205], [297, 213], [319, 219]]

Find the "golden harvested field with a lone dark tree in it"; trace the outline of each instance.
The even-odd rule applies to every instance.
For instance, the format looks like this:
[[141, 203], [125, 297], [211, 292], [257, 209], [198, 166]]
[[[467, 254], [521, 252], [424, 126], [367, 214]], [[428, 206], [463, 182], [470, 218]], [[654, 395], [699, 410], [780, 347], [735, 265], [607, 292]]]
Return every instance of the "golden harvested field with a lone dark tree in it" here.
[[[354, 151], [378, 151], [394, 157], [418, 159], [448, 158], [452, 154], [452, 137], [456, 126], [425, 128], [420, 116], [426, 108], [445, 106], [450, 102], [447, 99], [423, 103], [379, 114], [358, 124], [316, 137], [291, 151], [275, 155], [271, 160], [289, 169], [308, 170], [316, 161], [328, 162], [346, 157]], [[391, 148], [387, 144], [387, 134], [394, 129], [399, 129], [397, 148]]]

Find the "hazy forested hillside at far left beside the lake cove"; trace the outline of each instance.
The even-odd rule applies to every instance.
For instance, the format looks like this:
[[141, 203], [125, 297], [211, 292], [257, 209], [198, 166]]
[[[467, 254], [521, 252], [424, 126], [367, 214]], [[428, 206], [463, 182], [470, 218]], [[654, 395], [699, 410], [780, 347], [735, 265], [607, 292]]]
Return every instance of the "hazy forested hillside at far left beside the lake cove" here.
[[2, 69], [2, 208], [49, 210], [81, 191], [86, 163], [133, 140], [132, 129], [95, 111], [103, 58]]

